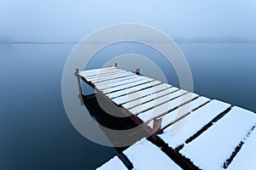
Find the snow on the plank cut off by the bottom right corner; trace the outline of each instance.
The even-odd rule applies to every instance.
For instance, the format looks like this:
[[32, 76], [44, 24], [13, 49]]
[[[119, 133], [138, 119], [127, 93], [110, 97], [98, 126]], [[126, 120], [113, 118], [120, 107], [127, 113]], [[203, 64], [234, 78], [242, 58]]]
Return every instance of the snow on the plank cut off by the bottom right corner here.
[[241, 150], [237, 153], [233, 161], [231, 161], [228, 170], [233, 169], [255, 169], [256, 167], [256, 129], [250, 134], [245, 143], [241, 146]]

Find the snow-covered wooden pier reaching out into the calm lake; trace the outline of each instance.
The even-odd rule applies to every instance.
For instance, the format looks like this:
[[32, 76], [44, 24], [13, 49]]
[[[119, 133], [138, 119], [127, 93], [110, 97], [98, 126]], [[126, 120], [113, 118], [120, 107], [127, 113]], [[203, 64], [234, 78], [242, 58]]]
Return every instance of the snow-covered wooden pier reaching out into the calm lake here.
[[[256, 115], [117, 65], [76, 71], [119, 113], [152, 134], [99, 169], [254, 169]], [[177, 133], [174, 131], [177, 130]], [[103, 163], [103, 162], [102, 162]]]

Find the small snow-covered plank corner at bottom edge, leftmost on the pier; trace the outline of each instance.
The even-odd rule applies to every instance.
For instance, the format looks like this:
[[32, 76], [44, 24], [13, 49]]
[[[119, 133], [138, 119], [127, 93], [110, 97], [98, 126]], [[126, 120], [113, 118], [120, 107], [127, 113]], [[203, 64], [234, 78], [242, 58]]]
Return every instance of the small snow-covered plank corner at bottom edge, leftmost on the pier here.
[[96, 170], [128, 170], [127, 167], [125, 167], [125, 164], [123, 161], [119, 160], [118, 156], [114, 156], [111, 160], [104, 163], [102, 167], [96, 168]]

